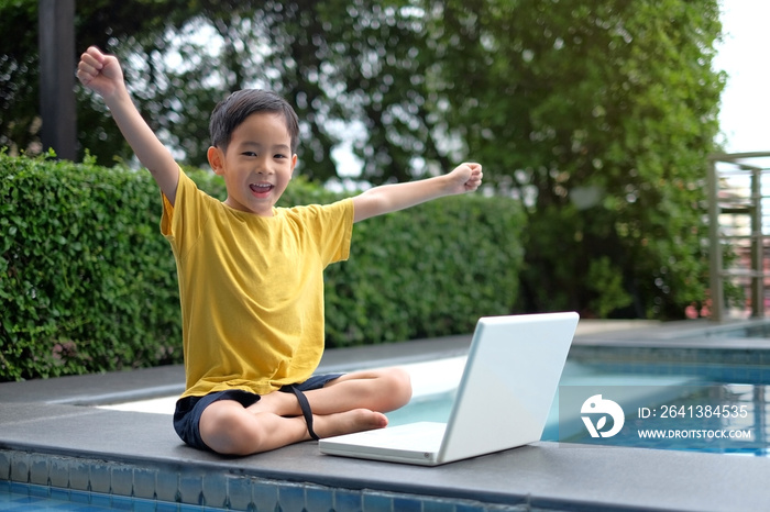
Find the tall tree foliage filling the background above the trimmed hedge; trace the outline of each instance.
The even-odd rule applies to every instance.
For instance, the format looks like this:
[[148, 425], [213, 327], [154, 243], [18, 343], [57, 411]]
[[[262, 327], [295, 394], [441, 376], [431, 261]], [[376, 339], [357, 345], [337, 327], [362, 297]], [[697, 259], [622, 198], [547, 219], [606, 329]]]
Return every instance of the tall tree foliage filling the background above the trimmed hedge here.
[[[20, 148], [34, 138], [36, 104], [35, 38], [20, 27], [36, 3], [0, 3], [0, 33], [15, 37], [3, 45], [0, 101], [13, 121], [3, 116], [0, 144]], [[371, 183], [482, 162], [486, 181], [528, 208], [520, 310], [678, 318], [706, 296], [703, 180], [724, 82], [712, 69], [717, 0], [77, 9], [78, 48], [122, 57], [145, 118], [189, 164], [205, 164], [217, 101], [271, 88], [302, 121], [310, 179], [350, 172], [332, 157], [343, 141], [362, 163], [355, 178]], [[82, 148], [103, 164], [130, 158], [100, 102], [78, 94]]]

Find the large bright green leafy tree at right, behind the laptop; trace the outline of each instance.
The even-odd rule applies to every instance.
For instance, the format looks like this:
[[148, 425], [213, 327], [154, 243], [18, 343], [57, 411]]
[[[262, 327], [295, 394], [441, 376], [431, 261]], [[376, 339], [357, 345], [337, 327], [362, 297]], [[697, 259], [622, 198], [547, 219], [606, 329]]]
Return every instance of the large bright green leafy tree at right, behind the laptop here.
[[446, 118], [530, 205], [528, 307], [675, 318], [702, 300], [717, 2], [436, 5], [433, 44], [464, 56], [441, 66]]

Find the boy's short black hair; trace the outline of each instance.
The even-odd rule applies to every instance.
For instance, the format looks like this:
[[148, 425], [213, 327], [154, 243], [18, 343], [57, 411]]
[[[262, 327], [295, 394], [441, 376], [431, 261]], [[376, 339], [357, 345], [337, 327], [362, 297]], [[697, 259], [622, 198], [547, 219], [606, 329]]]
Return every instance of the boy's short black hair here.
[[227, 151], [232, 132], [246, 118], [257, 112], [275, 112], [284, 114], [286, 129], [292, 138], [292, 154], [297, 153], [299, 145], [299, 120], [292, 105], [280, 96], [262, 89], [243, 89], [235, 91], [217, 103], [211, 112], [209, 133], [211, 145]]

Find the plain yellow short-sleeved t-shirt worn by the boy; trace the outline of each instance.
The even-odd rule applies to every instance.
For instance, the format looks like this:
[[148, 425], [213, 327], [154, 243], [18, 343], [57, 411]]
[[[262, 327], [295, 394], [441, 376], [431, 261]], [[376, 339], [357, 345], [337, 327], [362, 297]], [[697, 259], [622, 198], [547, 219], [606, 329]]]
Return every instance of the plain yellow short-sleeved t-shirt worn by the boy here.
[[234, 210], [182, 170], [161, 231], [176, 259], [186, 391], [265, 394], [306, 380], [323, 353], [323, 269], [348, 259], [353, 201]]

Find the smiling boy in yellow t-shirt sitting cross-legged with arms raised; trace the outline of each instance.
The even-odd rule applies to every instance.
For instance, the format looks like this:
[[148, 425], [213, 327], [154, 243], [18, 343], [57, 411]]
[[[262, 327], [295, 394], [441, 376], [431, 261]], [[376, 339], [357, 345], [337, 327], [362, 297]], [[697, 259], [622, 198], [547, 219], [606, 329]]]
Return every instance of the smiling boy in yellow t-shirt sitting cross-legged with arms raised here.
[[404, 370], [312, 375], [323, 352], [322, 270], [348, 258], [353, 223], [476, 190], [481, 166], [329, 205], [275, 208], [297, 164], [297, 116], [274, 93], [243, 90], [211, 115], [208, 159], [228, 192], [220, 202], [196, 188], [144, 122], [116, 57], [90, 47], [77, 76], [105, 100], [162, 192], [161, 231], [182, 303], [187, 382], [174, 414], [182, 439], [248, 455], [386, 426], [383, 413], [411, 397]]

